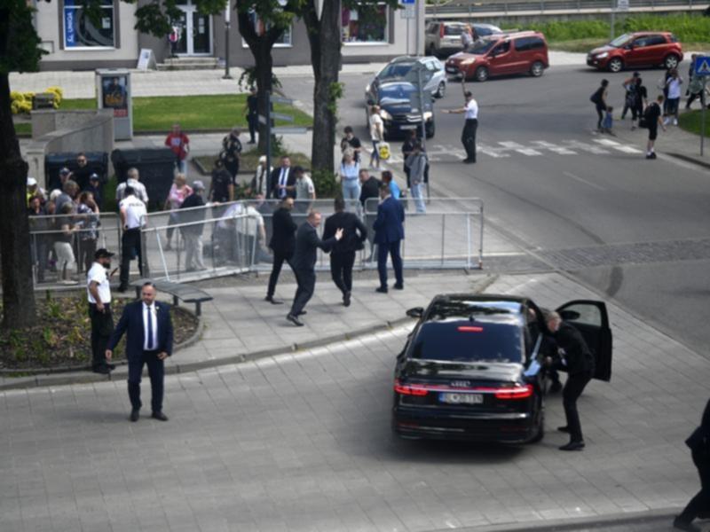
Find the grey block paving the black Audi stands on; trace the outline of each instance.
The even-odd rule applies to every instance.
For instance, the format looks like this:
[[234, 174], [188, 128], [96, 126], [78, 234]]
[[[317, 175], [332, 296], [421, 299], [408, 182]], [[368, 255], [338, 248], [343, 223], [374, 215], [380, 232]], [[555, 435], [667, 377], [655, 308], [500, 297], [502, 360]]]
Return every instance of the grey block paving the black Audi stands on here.
[[[548, 307], [595, 297], [556, 274], [488, 291]], [[610, 315], [614, 376], [580, 400], [581, 453], [557, 451], [552, 431], [516, 448], [392, 436], [408, 326], [170, 376], [168, 423], [129, 423], [123, 381], [5, 391], [0, 530], [423, 531], [672, 511], [698, 489], [682, 441], [710, 364], [612, 304]], [[550, 397], [547, 426], [562, 421]]]

